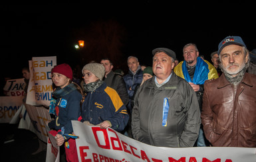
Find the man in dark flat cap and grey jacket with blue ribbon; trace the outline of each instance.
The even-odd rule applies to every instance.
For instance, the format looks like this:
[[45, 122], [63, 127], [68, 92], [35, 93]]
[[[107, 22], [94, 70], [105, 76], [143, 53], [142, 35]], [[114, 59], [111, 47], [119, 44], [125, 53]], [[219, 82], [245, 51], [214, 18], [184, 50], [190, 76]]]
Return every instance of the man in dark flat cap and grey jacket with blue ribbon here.
[[152, 54], [155, 76], [138, 89], [132, 110], [134, 139], [161, 147], [193, 147], [201, 124], [196, 95], [172, 71], [175, 52], [156, 48]]

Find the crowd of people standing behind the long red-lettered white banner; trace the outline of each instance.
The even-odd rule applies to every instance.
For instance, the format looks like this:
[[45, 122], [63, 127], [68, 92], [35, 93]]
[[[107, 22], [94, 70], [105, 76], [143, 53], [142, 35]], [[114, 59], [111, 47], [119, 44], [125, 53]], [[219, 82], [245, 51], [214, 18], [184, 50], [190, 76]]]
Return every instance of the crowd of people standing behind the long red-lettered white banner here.
[[68, 64], [55, 66], [48, 126], [66, 160], [78, 161], [71, 120], [161, 147], [256, 147], [256, 61], [241, 37], [224, 38], [211, 63], [196, 44], [183, 56], [156, 48], [146, 68], [130, 56], [124, 76], [104, 58], [84, 65], [79, 83]]

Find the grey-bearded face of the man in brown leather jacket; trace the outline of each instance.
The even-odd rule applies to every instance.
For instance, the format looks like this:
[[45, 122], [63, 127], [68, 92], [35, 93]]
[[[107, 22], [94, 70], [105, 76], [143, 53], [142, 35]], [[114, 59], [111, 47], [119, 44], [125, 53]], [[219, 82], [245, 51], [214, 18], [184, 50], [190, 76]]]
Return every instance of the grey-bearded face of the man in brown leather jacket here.
[[221, 50], [219, 59], [221, 60], [221, 69], [235, 77], [245, 67], [248, 54], [245, 54], [242, 46], [231, 44]]

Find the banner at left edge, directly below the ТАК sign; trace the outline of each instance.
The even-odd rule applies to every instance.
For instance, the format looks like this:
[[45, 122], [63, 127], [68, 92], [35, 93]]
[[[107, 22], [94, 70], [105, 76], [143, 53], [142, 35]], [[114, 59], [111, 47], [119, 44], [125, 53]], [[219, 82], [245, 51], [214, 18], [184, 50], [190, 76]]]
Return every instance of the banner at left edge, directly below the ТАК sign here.
[[15, 116], [17, 110], [22, 105], [23, 96], [0, 97], [0, 123], [7, 123]]

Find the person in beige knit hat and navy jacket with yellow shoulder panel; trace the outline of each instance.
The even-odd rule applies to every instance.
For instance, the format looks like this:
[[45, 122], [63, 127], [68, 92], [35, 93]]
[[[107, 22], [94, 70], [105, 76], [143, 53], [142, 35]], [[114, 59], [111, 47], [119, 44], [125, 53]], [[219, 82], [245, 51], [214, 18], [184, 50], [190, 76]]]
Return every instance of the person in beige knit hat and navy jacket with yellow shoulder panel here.
[[102, 81], [104, 74], [105, 68], [100, 63], [88, 63], [82, 68], [86, 95], [80, 121], [120, 132], [124, 130], [129, 116], [118, 93]]

